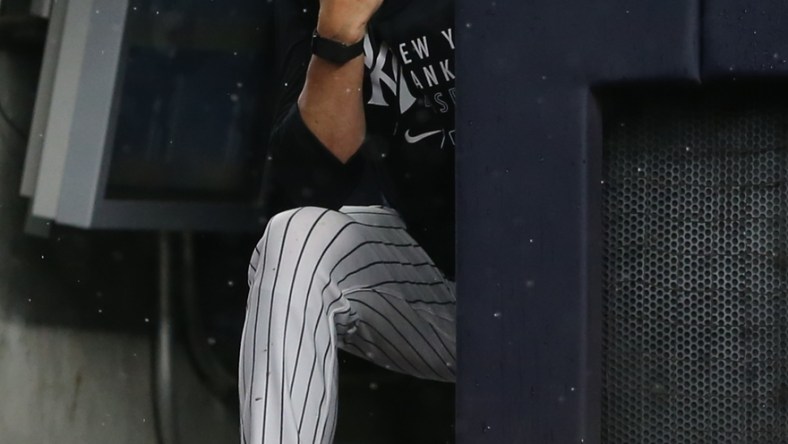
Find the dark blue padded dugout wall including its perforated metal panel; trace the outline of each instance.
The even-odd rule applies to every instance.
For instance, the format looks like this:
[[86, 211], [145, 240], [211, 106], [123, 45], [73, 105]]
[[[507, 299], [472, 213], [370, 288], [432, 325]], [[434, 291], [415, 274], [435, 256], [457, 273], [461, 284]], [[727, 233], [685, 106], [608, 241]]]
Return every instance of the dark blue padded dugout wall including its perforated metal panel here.
[[458, 442], [788, 436], [787, 13], [458, 0]]

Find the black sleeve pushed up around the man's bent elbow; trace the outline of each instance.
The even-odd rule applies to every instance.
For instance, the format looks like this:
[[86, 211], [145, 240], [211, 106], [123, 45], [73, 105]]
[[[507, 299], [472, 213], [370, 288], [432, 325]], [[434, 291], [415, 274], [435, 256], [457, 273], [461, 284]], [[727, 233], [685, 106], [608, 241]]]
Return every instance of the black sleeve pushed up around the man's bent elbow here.
[[279, 91], [264, 173], [269, 213], [300, 206], [338, 209], [365, 169], [360, 153], [347, 163], [334, 157], [307, 128], [296, 104], [311, 58], [317, 12], [313, 0], [278, 0], [274, 6]]

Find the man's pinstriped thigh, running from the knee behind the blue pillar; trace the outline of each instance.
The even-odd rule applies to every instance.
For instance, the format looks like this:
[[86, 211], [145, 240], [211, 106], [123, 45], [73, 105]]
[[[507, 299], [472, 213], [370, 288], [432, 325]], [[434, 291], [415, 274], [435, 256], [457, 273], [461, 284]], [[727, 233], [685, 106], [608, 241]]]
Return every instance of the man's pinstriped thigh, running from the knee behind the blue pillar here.
[[335, 315], [340, 348], [413, 376], [454, 380], [454, 283], [405, 230], [396, 211], [343, 207], [371, 243], [332, 273], [343, 305]]

